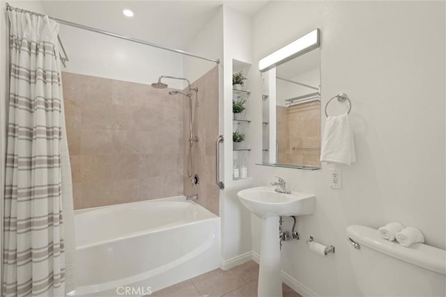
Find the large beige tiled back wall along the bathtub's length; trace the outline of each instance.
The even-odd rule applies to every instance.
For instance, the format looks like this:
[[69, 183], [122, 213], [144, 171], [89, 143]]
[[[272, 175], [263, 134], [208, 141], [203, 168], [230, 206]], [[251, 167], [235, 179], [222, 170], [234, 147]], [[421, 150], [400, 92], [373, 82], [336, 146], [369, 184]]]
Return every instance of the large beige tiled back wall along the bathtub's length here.
[[75, 209], [183, 195], [183, 97], [68, 72], [62, 80]]

